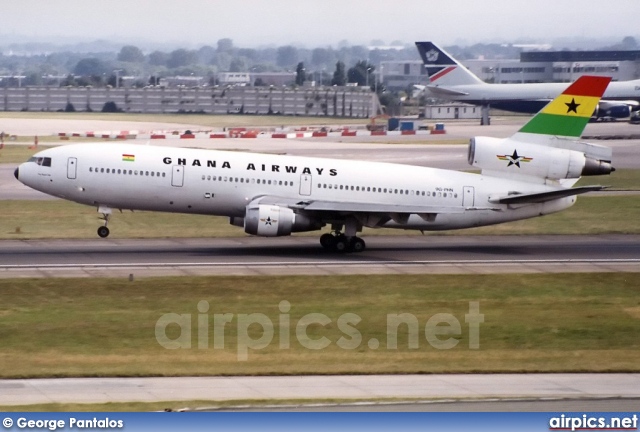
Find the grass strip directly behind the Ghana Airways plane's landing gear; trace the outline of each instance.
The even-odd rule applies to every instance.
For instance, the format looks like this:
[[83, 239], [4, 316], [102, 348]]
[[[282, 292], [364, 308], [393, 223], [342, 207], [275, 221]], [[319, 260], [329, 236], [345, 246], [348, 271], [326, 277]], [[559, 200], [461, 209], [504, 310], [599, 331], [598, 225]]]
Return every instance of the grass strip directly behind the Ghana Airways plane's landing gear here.
[[[614, 210], [615, 209], [615, 210]], [[3, 201], [0, 239], [96, 238], [101, 224], [93, 207], [62, 200]], [[580, 197], [564, 212], [490, 227], [426, 235], [640, 234], [640, 196]], [[155, 212], [114, 213], [110, 238], [237, 237], [228, 218]], [[159, 234], [160, 233], [160, 234]], [[420, 235], [418, 231], [365, 228], [363, 236]], [[299, 235], [317, 236], [318, 232]]]

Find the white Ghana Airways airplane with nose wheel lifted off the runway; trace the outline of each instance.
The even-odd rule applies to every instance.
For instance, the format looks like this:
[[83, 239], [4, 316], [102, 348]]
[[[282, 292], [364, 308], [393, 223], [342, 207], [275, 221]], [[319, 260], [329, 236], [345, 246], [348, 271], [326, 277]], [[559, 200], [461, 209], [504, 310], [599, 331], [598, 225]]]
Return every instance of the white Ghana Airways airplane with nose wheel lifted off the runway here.
[[363, 227], [450, 230], [571, 207], [583, 175], [614, 171], [612, 150], [577, 141], [610, 78], [581, 77], [506, 139], [474, 137], [480, 174], [381, 162], [128, 143], [43, 150], [15, 170], [25, 185], [102, 214], [112, 209], [229, 217], [248, 234], [316, 231], [321, 245], [361, 252]]

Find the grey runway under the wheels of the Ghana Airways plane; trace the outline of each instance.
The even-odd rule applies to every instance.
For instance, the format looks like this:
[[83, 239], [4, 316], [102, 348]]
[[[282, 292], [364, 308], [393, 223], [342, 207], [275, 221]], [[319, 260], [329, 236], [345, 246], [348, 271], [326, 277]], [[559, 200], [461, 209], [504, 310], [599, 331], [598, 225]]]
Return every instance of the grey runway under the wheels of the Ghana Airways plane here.
[[370, 236], [335, 254], [315, 237], [0, 241], [0, 277], [482, 274], [640, 271], [640, 235]]

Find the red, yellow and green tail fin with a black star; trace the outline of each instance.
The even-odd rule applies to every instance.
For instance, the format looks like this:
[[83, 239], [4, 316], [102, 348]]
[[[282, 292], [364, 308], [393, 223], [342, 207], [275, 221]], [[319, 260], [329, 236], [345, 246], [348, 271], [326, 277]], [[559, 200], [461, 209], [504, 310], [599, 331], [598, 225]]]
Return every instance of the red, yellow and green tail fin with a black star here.
[[611, 78], [582, 76], [518, 132], [579, 137]]

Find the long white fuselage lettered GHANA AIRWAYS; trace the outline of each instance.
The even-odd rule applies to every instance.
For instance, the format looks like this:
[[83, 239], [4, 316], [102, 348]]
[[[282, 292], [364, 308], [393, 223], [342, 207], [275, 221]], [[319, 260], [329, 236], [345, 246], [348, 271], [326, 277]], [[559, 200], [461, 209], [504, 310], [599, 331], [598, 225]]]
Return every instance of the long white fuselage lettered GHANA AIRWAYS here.
[[[124, 156], [129, 155], [129, 156]], [[551, 186], [480, 174], [378, 162], [225, 152], [135, 144], [78, 144], [44, 150], [19, 167], [21, 182], [96, 207], [243, 217], [269, 196], [396, 206], [457, 207], [425, 220], [392, 219], [386, 227], [445, 230], [553, 213], [576, 198], [519, 206], [490, 195], [541, 192]]]

